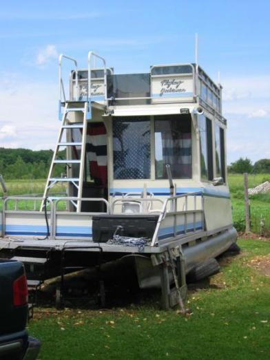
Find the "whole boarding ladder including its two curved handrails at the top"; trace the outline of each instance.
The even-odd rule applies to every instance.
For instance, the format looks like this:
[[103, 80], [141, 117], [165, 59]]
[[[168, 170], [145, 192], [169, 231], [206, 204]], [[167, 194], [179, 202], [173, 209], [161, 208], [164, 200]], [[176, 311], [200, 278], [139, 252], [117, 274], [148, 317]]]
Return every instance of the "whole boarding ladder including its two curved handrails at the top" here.
[[[65, 88], [64, 88], [64, 82], [63, 82], [63, 76], [62, 76], [62, 63], [63, 59], [66, 59], [68, 61], [72, 61], [74, 63], [75, 67], [75, 94], [71, 96], [70, 100], [66, 100], [65, 97]], [[83, 197], [83, 175], [84, 175], [84, 165], [85, 165], [85, 142], [86, 142], [86, 136], [87, 136], [87, 121], [92, 120], [92, 59], [98, 59], [103, 63], [103, 69], [104, 69], [104, 101], [105, 106], [107, 107], [108, 100], [107, 100], [107, 67], [106, 62], [103, 57], [95, 54], [94, 52], [88, 52], [88, 74], [87, 74], [87, 99], [85, 101], [79, 101], [79, 79], [78, 79], [78, 66], [77, 61], [70, 56], [66, 56], [61, 54], [59, 56], [59, 119], [61, 120], [61, 128], [59, 131], [58, 140], [56, 142], [56, 147], [54, 150], [54, 155], [52, 156], [52, 162], [50, 165], [50, 171], [48, 174], [48, 179], [45, 184], [45, 190], [43, 193], [43, 201], [41, 203], [40, 210], [43, 211], [43, 208], [45, 207], [45, 198], [48, 197], [49, 190], [54, 187], [54, 185], [58, 182], [65, 182], [68, 184], [68, 195], [70, 196], [70, 189], [72, 185], [76, 187], [77, 195], [76, 197], [72, 198], [78, 198], [78, 200], [70, 200], [72, 204], [74, 205], [76, 212], [81, 212], [81, 200], [79, 198]], [[62, 106], [64, 106], [63, 114], [62, 114]], [[67, 115], [70, 112], [83, 112], [83, 122], [82, 123], [68, 123]], [[72, 141], [72, 136], [69, 134], [69, 130], [72, 131], [72, 129], [82, 129], [81, 131], [81, 142], [74, 142]], [[67, 138], [63, 140], [63, 134], [65, 133], [65, 130], [67, 130]], [[71, 159], [68, 158], [71, 154], [71, 151], [68, 151], [68, 148], [71, 147], [81, 147], [81, 155], [79, 156], [79, 159]], [[66, 147], [66, 159], [60, 160], [58, 159], [58, 154], [61, 147]], [[67, 165], [67, 176], [65, 178], [54, 178], [53, 177], [53, 171], [55, 168], [55, 165], [57, 164], [65, 164]], [[79, 164], [79, 178], [74, 178], [72, 176], [72, 164]]]

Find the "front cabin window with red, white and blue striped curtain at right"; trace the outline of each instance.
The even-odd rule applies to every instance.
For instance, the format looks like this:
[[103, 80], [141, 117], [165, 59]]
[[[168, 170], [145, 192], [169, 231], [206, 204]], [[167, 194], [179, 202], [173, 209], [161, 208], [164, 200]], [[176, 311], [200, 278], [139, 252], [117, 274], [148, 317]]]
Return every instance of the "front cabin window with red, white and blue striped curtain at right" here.
[[154, 126], [156, 178], [167, 178], [167, 164], [173, 178], [191, 178], [191, 116], [155, 116]]

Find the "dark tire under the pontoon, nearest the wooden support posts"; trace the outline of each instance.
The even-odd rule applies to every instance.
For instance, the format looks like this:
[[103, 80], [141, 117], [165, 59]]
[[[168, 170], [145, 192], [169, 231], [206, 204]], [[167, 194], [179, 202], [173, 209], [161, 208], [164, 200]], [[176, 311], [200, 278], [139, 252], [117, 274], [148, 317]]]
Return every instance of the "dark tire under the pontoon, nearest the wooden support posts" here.
[[220, 264], [218, 264], [214, 257], [210, 257], [210, 259], [200, 262], [200, 264], [196, 265], [195, 268], [187, 274], [187, 282], [198, 282], [199, 280], [205, 279], [205, 277], [209, 277], [210, 275], [214, 275], [219, 271]]

